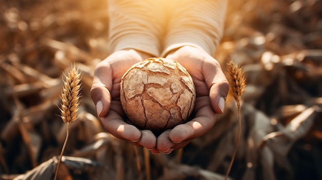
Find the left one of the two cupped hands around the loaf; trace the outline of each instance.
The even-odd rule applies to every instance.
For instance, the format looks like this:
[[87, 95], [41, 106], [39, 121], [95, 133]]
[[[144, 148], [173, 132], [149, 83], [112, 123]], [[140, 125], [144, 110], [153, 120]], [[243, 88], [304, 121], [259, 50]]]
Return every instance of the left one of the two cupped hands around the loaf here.
[[155, 135], [149, 130], [140, 131], [126, 123], [120, 103], [121, 77], [132, 65], [149, 57], [135, 50], [121, 50], [111, 54], [95, 68], [91, 97], [99, 120], [108, 132], [136, 146], [152, 150], [156, 146]]

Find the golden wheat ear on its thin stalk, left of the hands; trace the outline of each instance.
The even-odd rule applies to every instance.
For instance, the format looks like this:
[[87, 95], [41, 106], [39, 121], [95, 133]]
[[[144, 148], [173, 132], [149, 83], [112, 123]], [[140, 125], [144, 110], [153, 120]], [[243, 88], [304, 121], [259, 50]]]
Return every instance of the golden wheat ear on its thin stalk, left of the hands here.
[[66, 138], [65, 142], [61, 151], [61, 154], [59, 156], [59, 161], [57, 164], [56, 168], [56, 173], [55, 173], [55, 180], [57, 178], [58, 170], [59, 170], [59, 165], [62, 160], [62, 156], [65, 150], [65, 146], [67, 143], [68, 139], [68, 134], [69, 134], [69, 125], [70, 123], [73, 123], [77, 119], [77, 111], [80, 108], [79, 106], [79, 91], [81, 89], [81, 84], [80, 84], [80, 72], [78, 69], [74, 67], [71, 68], [71, 70], [68, 72], [68, 75], [65, 75], [66, 80], [64, 81], [63, 85], [63, 90], [62, 90], [62, 104], [61, 104], [61, 118], [63, 121], [67, 124], [66, 128]]

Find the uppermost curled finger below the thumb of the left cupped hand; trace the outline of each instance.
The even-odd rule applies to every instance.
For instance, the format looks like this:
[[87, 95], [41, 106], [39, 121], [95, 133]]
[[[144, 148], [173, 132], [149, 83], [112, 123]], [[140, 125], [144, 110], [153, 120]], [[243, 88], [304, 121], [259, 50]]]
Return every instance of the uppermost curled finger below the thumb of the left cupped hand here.
[[115, 137], [132, 142], [140, 141], [140, 130], [124, 122], [117, 112], [111, 110], [106, 117], [100, 117], [99, 119], [103, 127]]

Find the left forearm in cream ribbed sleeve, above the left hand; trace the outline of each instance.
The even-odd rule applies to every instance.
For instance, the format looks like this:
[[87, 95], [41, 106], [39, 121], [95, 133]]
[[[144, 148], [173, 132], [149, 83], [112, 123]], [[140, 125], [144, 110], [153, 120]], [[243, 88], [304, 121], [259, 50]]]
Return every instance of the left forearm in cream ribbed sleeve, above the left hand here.
[[151, 56], [160, 54], [159, 15], [156, 1], [109, 0], [110, 52], [135, 49]]

